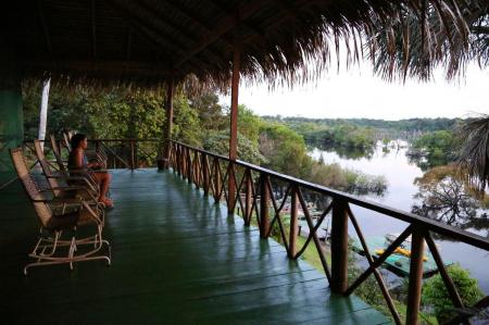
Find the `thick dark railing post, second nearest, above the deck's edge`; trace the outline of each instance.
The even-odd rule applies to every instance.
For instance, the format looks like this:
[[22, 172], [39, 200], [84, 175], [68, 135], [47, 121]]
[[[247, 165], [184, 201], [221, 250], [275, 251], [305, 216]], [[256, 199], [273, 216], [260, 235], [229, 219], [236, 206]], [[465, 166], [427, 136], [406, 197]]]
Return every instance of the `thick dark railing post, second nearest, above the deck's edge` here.
[[344, 293], [348, 288], [348, 202], [333, 200], [331, 291]]

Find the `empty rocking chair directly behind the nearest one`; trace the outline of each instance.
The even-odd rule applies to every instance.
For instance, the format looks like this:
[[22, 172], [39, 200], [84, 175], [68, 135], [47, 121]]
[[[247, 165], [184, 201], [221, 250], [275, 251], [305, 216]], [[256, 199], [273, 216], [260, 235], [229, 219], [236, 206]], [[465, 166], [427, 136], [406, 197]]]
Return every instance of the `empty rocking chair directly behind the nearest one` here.
[[83, 173], [79, 176], [70, 176], [65, 171], [55, 173], [51, 170], [51, 163], [46, 159], [41, 142], [37, 139], [34, 140], [34, 149], [54, 197], [73, 198], [82, 196], [84, 199], [97, 202], [97, 198], [100, 196], [99, 186], [89, 174]]

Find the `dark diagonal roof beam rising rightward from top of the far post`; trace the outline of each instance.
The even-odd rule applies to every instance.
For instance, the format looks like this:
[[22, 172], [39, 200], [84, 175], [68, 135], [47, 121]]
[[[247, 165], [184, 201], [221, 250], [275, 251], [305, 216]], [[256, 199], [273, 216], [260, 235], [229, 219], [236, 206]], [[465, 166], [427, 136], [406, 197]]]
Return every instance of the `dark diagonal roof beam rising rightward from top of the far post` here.
[[225, 16], [216, 24], [216, 27], [201, 40], [201, 42], [197, 47], [195, 47], [184, 58], [177, 61], [175, 67], [178, 68], [190, 58], [200, 53], [209, 45], [217, 40], [222, 35], [235, 28], [239, 24], [239, 21], [243, 21], [247, 17], [251, 16], [252, 14], [259, 12], [267, 2], [268, 1], [254, 0], [252, 2], [247, 3], [242, 8], [238, 9], [236, 15]]

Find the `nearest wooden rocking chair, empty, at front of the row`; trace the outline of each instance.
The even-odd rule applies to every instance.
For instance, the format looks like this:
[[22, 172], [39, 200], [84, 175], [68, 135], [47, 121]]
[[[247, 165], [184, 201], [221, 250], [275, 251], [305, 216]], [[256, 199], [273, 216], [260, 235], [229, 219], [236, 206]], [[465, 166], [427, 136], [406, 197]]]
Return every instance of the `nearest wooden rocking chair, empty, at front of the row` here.
[[[24, 274], [27, 275], [29, 267], [53, 264], [70, 264], [73, 270], [73, 264], [82, 261], [104, 260], [110, 265], [110, 243], [102, 238], [103, 210], [97, 209], [97, 205], [90, 207], [83, 200], [78, 200], [78, 204], [74, 207], [71, 200], [72, 209], [67, 212], [63, 209], [60, 213], [57, 208], [64, 205], [66, 201], [53, 197], [51, 191], [39, 189], [28, 172], [21, 148], [11, 149], [10, 154], [40, 223], [39, 238], [28, 254], [35, 261], [24, 267]], [[91, 233], [84, 238], [77, 238], [76, 229], [82, 226]], [[108, 248], [106, 253], [103, 253], [104, 245]]]

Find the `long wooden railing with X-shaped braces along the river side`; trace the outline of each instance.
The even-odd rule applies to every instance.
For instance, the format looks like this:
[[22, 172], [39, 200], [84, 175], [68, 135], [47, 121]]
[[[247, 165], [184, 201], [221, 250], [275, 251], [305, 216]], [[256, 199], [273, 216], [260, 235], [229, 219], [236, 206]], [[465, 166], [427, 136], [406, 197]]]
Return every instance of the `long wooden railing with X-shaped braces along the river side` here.
[[[486, 251], [489, 251], [488, 239], [423, 216], [406, 213], [324, 186], [283, 175], [243, 161], [230, 161], [226, 157], [191, 148], [177, 141], [172, 141], [170, 148], [170, 166], [176, 173], [186, 178], [188, 183], [195, 184], [197, 188], [203, 189], [205, 195], [213, 196], [215, 202], [225, 202], [230, 213], [238, 207], [240, 211], [242, 211], [241, 214], [246, 225], [250, 225], [254, 216], [262, 238], [271, 236], [271, 229], [273, 225], [277, 223], [279, 235], [290, 259], [294, 260], [301, 257], [311, 241], [314, 242], [323, 270], [334, 292], [346, 296], [351, 295], [365, 282], [365, 279], [367, 279], [367, 277], [374, 275], [392, 318], [397, 324], [402, 324], [402, 321], [378, 267], [383, 265], [387, 258], [391, 255], [410, 235], [412, 236], [405, 323], [416, 324], [418, 322], [421, 305], [423, 255], [424, 245], [426, 242], [448, 289], [454, 309], [463, 311], [462, 313], [459, 313], [456, 318], [449, 322], [449, 324], [468, 323], [467, 320], [471, 316], [471, 310], [473, 311], [473, 309], [467, 309], [462, 302], [453, 280], [450, 278], [444, 267], [443, 260], [432, 239], [432, 234], [442, 235], [447, 238], [459, 240]], [[236, 189], [229, 190], [229, 183], [231, 186], [235, 184]], [[281, 189], [285, 188], [280, 199], [277, 199], [274, 191], [274, 185], [277, 184]], [[229, 196], [229, 192], [234, 192], [235, 195]], [[306, 203], [308, 195], [325, 197], [329, 202], [317, 217], [316, 222], [313, 221], [310, 208]], [[287, 200], [290, 200], [290, 228], [288, 232], [286, 230], [280, 216], [280, 212], [284, 210]], [[386, 217], [393, 217], [403, 221], [409, 225], [384, 251], [384, 253], [374, 260], [356, 217], [351, 210], [351, 205], [362, 207], [378, 212]], [[309, 227], [309, 235], [302, 247], [298, 247], [299, 210], [302, 210]], [[331, 214], [331, 265], [328, 265], [327, 263], [318, 236], [318, 227], [328, 214]], [[349, 220], [353, 225], [354, 232], [359, 236], [368, 263], [366, 271], [350, 284], [347, 279]], [[489, 297], [486, 297], [474, 307], [469, 308], [480, 310], [487, 308], [488, 304]]]

